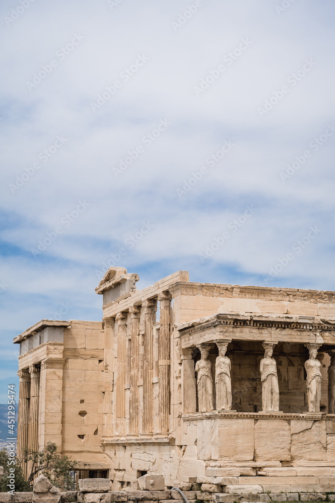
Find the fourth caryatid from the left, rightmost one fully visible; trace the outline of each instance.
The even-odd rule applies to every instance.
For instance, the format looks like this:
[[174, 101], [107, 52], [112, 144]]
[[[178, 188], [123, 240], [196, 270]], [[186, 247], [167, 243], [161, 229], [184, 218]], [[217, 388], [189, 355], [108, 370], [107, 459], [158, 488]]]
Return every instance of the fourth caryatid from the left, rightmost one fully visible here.
[[309, 351], [309, 360], [305, 362], [305, 369], [307, 373], [307, 398], [308, 398], [308, 411], [320, 412], [320, 399], [321, 399], [321, 367], [322, 364], [316, 359], [319, 344], [307, 344]]

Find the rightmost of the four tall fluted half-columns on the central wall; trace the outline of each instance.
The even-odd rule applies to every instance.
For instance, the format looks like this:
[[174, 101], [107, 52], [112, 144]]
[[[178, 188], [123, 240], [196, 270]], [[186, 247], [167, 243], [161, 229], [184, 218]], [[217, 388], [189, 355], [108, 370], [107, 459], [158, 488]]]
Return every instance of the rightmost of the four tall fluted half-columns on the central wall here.
[[159, 425], [161, 433], [169, 432], [170, 416], [170, 353], [171, 353], [171, 299], [170, 292], [159, 295], [158, 386]]

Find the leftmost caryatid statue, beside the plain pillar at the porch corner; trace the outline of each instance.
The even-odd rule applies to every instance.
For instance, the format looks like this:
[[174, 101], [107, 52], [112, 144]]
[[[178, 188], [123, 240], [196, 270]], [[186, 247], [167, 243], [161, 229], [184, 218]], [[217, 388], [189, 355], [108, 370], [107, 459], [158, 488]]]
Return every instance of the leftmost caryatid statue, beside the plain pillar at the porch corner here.
[[207, 344], [200, 344], [201, 359], [195, 364], [197, 372], [197, 391], [199, 412], [210, 412], [213, 407], [213, 377], [212, 363], [208, 359], [209, 347]]

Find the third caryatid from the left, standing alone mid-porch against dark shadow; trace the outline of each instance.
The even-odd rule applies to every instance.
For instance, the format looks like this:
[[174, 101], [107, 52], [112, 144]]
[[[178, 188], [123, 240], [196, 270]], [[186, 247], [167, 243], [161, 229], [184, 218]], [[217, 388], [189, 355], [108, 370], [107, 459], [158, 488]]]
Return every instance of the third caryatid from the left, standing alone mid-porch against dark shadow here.
[[262, 410], [279, 411], [279, 386], [276, 360], [272, 358], [275, 343], [263, 343], [264, 358], [260, 360], [260, 380], [262, 383]]

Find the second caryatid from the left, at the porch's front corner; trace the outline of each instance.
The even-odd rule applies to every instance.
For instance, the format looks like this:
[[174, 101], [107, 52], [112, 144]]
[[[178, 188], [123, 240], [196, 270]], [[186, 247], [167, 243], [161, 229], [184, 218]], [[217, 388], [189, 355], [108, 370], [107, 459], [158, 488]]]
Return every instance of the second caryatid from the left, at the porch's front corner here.
[[216, 341], [215, 344], [219, 349], [219, 356], [215, 362], [216, 408], [231, 410], [231, 363], [226, 356], [228, 342]]

